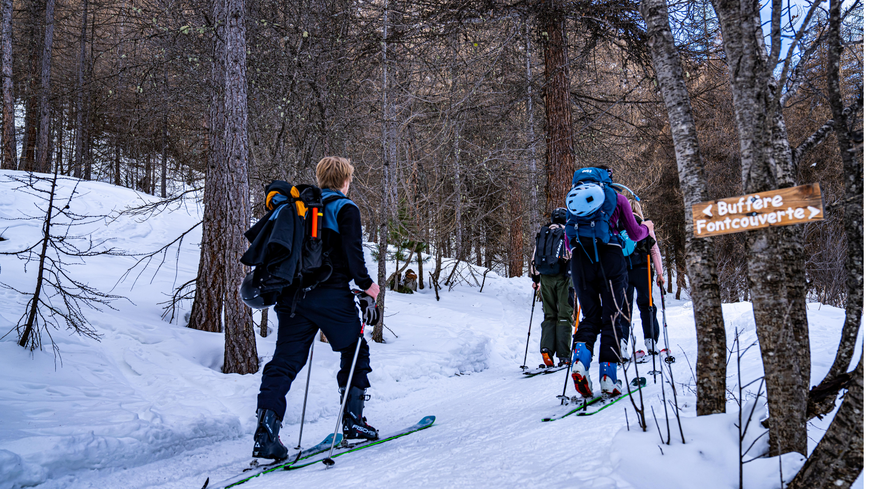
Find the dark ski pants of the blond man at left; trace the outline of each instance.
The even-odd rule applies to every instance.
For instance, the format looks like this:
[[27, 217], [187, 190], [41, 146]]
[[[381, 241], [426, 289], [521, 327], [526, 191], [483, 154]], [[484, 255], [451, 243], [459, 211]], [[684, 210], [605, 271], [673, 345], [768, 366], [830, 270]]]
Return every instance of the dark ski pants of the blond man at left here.
[[[357, 304], [350, 289], [318, 288], [308, 291], [305, 298], [299, 300], [296, 314], [292, 317], [291, 298], [292, 295], [288, 294], [288, 299], [280, 301], [275, 307], [278, 315], [278, 342], [275, 345], [275, 355], [263, 368], [263, 379], [257, 397], [258, 409], [271, 409], [280, 419], [284, 419], [284, 412], [287, 410], [287, 392], [290, 392], [293, 379], [308, 361], [311, 342], [318, 330], [324, 332], [332, 351], [341, 353], [341, 365], [336, 377], [338, 386], [344, 387], [347, 385], [353, 352], [356, 351], [357, 338], [362, 327]], [[351, 385], [360, 389], [370, 387], [369, 372], [369, 345], [364, 338], [359, 346]]]

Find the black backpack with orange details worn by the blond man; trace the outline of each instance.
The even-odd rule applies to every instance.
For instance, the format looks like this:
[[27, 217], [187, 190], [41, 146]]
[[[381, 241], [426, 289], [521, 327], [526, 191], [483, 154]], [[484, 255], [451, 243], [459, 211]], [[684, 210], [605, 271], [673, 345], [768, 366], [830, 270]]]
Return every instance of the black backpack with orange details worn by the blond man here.
[[[255, 266], [245, 276], [240, 293], [245, 304], [263, 309], [278, 302], [284, 287], [310, 291], [332, 275], [329, 251], [323, 250], [323, 210], [337, 196], [322, 198], [319, 187], [273, 180], [265, 188], [268, 211], [244, 233], [251, 247], [241, 258]], [[281, 217], [282, 228], [275, 223]], [[293, 299], [292, 309], [298, 298]]]

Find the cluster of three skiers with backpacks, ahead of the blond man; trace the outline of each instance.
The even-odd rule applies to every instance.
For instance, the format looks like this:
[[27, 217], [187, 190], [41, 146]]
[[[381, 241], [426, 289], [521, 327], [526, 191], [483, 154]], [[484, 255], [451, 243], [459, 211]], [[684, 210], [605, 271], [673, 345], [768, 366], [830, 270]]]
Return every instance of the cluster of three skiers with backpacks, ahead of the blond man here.
[[[632, 193], [632, 201], [619, 189]], [[535, 238], [530, 272], [544, 306], [540, 352], [544, 367], [570, 364], [574, 387], [592, 397], [589, 372], [600, 335], [599, 385], [602, 395], [622, 392], [617, 367], [645, 353], [658, 355], [659, 323], [651, 288], [663, 283], [661, 253], [653, 222], [644, 218], [639, 198], [613, 184], [605, 165], [574, 173], [566, 208], [551, 213]], [[646, 352], [630, 352], [632, 302], [637, 304]], [[583, 319], [572, 334], [575, 304]], [[555, 364], [558, 358], [558, 365]]]

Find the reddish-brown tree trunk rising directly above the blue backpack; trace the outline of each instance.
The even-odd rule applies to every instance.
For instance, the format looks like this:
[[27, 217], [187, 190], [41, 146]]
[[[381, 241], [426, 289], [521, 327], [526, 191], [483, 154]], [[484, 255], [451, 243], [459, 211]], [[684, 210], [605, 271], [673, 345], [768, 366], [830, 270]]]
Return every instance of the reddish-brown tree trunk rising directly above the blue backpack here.
[[546, 113], [546, 209], [565, 206], [574, 175], [571, 79], [565, 12], [552, 3], [542, 10], [544, 27], [544, 107]]

